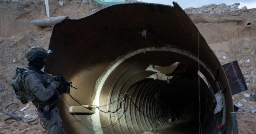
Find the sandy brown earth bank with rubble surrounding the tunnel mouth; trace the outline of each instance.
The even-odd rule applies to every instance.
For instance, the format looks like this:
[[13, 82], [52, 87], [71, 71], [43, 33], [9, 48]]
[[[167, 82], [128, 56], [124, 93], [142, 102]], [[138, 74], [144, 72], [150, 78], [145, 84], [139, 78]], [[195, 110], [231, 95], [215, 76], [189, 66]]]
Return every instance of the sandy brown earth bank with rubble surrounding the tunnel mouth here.
[[[70, 2], [64, 0], [64, 6], [59, 7], [58, 1], [50, 0], [50, 16], [66, 15], [70, 18], [82, 18], [106, 7], [92, 0]], [[230, 9], [231, 6], [210, 5], [202, 8], [188, 8], [186, 12], [222, 64], [238, 60], [246, 82], [249, 84], [249, 90], [235, 95], [234, 103], [240, 102], [242, 109], [255, 110], [256, 102], [244, 97], [244, 93], [256, 92], [256, 58], [254, 56], [256, 52], [256, 9], [234, 11]], [[0, 1], [0, 109], [12, 102], [19, 104], [18, 108], [12, 104], [0, 110], [0, 134], [43, 134], [45, 132], [39, 123], [29, 125], [13, 119], [4, 121], [9, 116], [3, 113], [11, 113], [26, 106], [14, 97], [9, 84], [15, 68], [20, 65], [26, 66], [28, 63], [23, 58], [28, 48], [31, 46], [48, 47], [52, 27], [39, 28], [28, 24], [30, 20], [43, 18], [46, 16], [42, 0]], [[247, 27], [248, 22], [251, 23], [250, 27]], [[223, 56], [226, 56], [226, 59]], [[250, 62], [246, 62], [248, 59]], [[247, 102], [242, 102], [242, 99]], [[29, 120], [36, 119], [34, 106], [30, 104], [20, 115], [26, 116]], [[256, 114], [250, 111], [239, 112], [237, 120], [240, 134], [256, 134]]]

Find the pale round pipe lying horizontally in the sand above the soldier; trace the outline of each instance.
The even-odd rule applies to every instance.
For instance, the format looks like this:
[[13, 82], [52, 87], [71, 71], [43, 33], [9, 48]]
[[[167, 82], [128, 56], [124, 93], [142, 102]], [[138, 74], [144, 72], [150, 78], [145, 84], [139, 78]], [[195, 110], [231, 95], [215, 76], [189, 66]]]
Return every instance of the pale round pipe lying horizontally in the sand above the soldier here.
[[29, 23], [34, 24], [36, 26], [52, 26], [58, 22], [61, 22], [65, 18], [69, 18], [69, 17], [68, 16], [50, 17], [42, 20], [32, 20]]

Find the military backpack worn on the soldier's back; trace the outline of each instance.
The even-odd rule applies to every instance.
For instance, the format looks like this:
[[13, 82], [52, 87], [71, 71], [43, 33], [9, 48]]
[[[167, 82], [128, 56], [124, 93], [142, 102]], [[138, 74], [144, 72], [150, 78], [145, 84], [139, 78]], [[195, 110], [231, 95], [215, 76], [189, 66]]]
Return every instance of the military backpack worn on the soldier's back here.
[[35, 99], [34, 94], [24, 86], [24, 79], [30, 70], [20, 66], [16, 68], [16, 73], [12, 76], [12, 88], [14, 89], [15, 97], [21, 101], [22, 104], [28, 103], [28, 100]]

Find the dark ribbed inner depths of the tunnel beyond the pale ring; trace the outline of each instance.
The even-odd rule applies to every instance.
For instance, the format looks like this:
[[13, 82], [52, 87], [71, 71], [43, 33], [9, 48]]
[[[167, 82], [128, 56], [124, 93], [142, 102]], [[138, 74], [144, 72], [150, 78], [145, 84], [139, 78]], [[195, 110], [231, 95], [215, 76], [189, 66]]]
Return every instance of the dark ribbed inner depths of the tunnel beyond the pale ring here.
[[[122, 89], [123, 87], [125, 86], [118, 88], [122, 92], [119, 97], [112, 96], [112, 99], [127, 99], [122, 103], [123, 110], [118, 111], [118, 114], [111, 114], [124, 114], [124, 118], [120, 119], [120, 126], [113, 126], [118, 129], [115, 132], [121, 130], [124, 133], [140, 134], [157, 130], [162, 125], [165, 125], [165, 131], [179, 134], [214, 132], [212, 124], [218, 122], [213, 114], [216, 105], [214, 94], [210, 86], [198, 76], [197, 70], [188, 70], [182, 75], [173, 76], [169, 83], [166, 80], [145, 78], [129, 88]], [[120, 103], [111, 104], [109, 109], [114, 110], [119, 106]]]

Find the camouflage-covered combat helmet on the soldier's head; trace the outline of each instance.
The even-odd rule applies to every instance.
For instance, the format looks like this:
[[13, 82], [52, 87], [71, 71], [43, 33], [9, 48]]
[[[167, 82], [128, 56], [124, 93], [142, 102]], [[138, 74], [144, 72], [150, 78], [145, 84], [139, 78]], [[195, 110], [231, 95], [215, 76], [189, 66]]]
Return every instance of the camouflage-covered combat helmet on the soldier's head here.
[[33, 61], [37, 57], [47, 58], [48, 53], [44, 48], [33, 46], [27, 50], [25, 57], [28, 59], [28, 61]]

